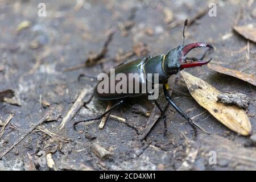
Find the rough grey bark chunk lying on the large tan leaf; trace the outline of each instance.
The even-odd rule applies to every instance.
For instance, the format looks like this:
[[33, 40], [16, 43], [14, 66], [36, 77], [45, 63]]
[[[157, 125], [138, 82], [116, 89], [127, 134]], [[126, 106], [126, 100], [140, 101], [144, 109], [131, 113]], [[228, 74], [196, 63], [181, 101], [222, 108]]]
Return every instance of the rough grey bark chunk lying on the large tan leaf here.
[[247, 109], [250, 103], [250, 98], [246, 94], [239, 92], [224, 92], [217, 96], [218, 102], [224, 104], [237, 105], [240, 108]]

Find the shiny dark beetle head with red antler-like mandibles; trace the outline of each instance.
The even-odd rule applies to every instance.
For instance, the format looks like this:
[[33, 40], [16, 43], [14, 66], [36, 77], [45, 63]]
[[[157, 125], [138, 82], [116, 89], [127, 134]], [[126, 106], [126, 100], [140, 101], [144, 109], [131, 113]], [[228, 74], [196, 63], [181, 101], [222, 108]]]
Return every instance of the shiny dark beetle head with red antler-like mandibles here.
[[[192, 49], [204, 47], [207, 47], [208, 49], [199, 59], [195, 57], [186, 57], [187, 53]], [[203, 58], [211, 49], [213, 49], [212, 45], [207, 43], [191, 43], [184, 47], [180, 45], [165, 55], [163, 65], [164, 72], [166, 72], [168, 75], [173, 75], [184, 68], [199, 67], [207, 64], [211, 59], [204, 61]]]

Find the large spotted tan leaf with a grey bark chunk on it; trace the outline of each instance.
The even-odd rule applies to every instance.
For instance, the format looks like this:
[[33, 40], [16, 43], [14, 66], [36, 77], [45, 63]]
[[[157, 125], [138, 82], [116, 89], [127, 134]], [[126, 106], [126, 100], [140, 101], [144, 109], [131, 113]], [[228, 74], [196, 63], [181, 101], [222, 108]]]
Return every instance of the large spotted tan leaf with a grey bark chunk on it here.
[[236, 133], [250, 135], [251, 123], [243, 109], [217, 102], [217, 96], [221, 92], [200, 78], [184, 71], [181, 72], [181, 76], [192, 97], [218, 121]]

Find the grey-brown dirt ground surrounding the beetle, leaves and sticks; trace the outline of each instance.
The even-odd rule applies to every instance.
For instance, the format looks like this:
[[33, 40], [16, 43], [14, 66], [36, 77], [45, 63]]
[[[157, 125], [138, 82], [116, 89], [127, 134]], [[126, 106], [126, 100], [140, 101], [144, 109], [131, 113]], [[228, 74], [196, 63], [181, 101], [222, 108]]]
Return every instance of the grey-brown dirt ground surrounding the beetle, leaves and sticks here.
[[[74, 130], [73, 122], [105, 111], [108, 102], [93, 98], [59, 130], [62, 119], [81, 90], [86, 89], [84, 101], [88, 101], [96, 85], [88, 78], [79, 82], [77, 77], [81, 73], [97, 76], [119, 63], [109, 60], [75, 71], [63, 72], [63, 69], [83, 64], [90, 52], [99, 52], [112, 29], [115, 33], [106, 58], [114, 57], [121, 51], [129, 52], [140, 42], [147, 45], [150, 55], [167, 53], [182, 44], [183, 27], [170, 28], [167, 24], [170, 17], [166, 19], [165, 9], [172, 11], [172, 21], [182, 22], [204, 10], [212, 1], [64, 0], [57, 3], [49, 0], [44, 1], [46, 17], [38, 16], [40, 2], [0, 2], [0, 92], [14, 90], [15, 98], [21, 105], [0, 102], [2, 122], [10, 114], [14, 115], [0, 140], [0, 154], [47, 111], [55, 116], [61, 115], [56, 121], [45, 122], [33, 130], [3, 156], [0, 169], [256, 169], [256, 148], [250, 137], [241, 137], [214, 119], [193, 100], [181, 78], [174, 89], [185, 94], [174, 91], [172, 98], [211, 135], [199, 132], [195, 139], [191, 125], [169, 106], [166, 115], [170, 132], [164, 135], [163, 119], [160, 119], [146, 140], [141, 142], [139, 137], [147, 126], [148, 118], [132, 112], [132, 107], [140, 104], [152, 110], [152, 102], [144, 97], [131, 99], [112, 111], [112, 115], [126, 118], [126, 123], [109, 118], [102, 130], [98, 129], [100, 121], [78, 125], [78, 131]], [[233, 26], [250, 23], [255, 26], [255, 8], [255, 1], [218, 1], [216, 17], [206, 13], [187, 27], [185, 44], [209, 42], [214, 46], [210, 55], [213, 63], [254, 74], [255, 43], [234, 32]], [[17, 31], [16, 28], [24, 20], [30, 21], [30, 26]], [[129, 26], [124, 30], [122, 27], [127, 24]], [[133, 55], [125, 61], [136, 58]], [[186, 71], [221, 92], [246, 94], [251, 100], [247, 114], [252, 134], [255, 134], [255, 86], [214, 72], [206, 66]], [[162, 105], [166, 103], [162, 95], [159, 100]], [[95, 146], [98, 145], [93, 144], [92, 147], [92, 143], [100, 144], [105, 150], [97, 151]], [[104, 153], [106, 151], [107, 154]], [[209, 163], [212, 154], [216, 154], [217, 164]], [[184, 162], [191, 159], [187, 158], [188, 155], [193, 160], [188, 161], [186, 166]]]

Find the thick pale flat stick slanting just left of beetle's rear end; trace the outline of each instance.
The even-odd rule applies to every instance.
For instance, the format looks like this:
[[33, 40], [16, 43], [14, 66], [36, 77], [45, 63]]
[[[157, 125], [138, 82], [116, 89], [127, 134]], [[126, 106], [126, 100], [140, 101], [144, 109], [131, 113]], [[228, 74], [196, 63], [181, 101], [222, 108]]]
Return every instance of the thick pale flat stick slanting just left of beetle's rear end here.
[[75, 103], [71, 106], [71, 108], [68, 110], [67, 115], [63, 118], [62, 122], [59, 125], [59, 130], [63, 129], [66, 125], [66, 123], [72, 119], [77, 111], [81, 109], [81, 107], [84, 105], [84, 101], [82, 101], [82, 98], [84, 98], [86, 94], [86, 89], [83, 89], [79, 96], [77, 97]]

